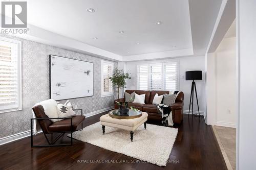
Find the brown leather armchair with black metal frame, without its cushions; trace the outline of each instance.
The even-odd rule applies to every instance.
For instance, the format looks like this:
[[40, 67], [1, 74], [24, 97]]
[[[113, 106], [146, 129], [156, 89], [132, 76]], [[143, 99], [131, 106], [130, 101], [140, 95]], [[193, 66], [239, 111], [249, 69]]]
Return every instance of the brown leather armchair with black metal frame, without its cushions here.
[[[72, 145], [73, 144], [72, 133], [76, 131], [78, 125], [80, 124], [82, 129], [82, 122], [86, 118], [86, 116], [82, 115], [82, 109], [74, 109], [74, 110], [81, 111], [81, 115], [66, 117], [66, 118], [63, 118], [63, 120], [59, 120], [57, 122], [52, 123], [50, 119], [60, 119], [60, 118], [57, 118], [57, 117], [49, 118], [45, 114], [44, 108], [41, 105], [34, 106], [32, 109], [35, 113], [36, 118], [30, 119], [31, 147], [51, 147], [51, 146], [60, 146], [60, 145]], [[42, 133], [44, 133], [49, 145], [33, 145], [33, 120], [34, 119], [37, 120], [37, 123], [42, 129]], [[50, 142], [47, 137], [47, 134], [53, 134], [53, 133], [61, 133], [61, 134], [58, 135], [55, 139], [53, 139]], [[65, 133], [71, 133], [71, 143], [70, 144], [54, 144]]]

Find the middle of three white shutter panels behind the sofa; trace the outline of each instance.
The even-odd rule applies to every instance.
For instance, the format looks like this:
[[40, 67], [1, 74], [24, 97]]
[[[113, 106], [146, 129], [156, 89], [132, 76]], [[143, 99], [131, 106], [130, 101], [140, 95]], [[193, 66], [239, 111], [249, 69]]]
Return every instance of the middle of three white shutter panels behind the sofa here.
[[162, 64], [150, 65], [150, 88], [149, 90], [162, 89]]

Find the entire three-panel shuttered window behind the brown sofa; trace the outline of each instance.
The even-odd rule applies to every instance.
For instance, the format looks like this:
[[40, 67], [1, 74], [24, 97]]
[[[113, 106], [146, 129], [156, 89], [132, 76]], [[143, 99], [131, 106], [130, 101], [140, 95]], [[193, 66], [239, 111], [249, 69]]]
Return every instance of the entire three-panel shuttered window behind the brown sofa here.
[[178, 90], [178, 62], [137, 66], [139, 90]]

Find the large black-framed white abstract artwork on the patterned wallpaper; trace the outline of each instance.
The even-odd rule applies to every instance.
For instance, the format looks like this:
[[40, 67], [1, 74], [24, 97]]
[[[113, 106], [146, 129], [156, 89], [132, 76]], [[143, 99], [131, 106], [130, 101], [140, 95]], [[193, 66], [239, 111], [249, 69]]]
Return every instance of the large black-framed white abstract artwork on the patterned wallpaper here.
[[50, 99], [93, 96], [93, 63], [50, 55]]

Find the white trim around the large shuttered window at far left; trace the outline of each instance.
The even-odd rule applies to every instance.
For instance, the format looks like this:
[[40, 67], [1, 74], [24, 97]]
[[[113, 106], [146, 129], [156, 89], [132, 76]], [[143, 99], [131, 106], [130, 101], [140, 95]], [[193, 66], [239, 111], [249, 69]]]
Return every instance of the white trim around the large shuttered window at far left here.
[[12, 111], [18, 111], [22, 110], [22, 41], [11, 39], [11, 38], [6, 38], [6, 37], [1, 37], [0, 36], [0, 41], [7, 41], [11, 43], [16, 43], [17, 44], [17, 101], [18, 101], [18, 106], [16, 108], [11, 108], [11, 109], [4, 109], [0, 110], [0, 113], [6, 113], [6, 112], [12, 112]]

